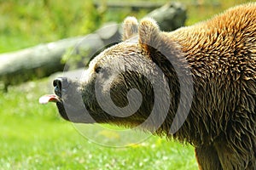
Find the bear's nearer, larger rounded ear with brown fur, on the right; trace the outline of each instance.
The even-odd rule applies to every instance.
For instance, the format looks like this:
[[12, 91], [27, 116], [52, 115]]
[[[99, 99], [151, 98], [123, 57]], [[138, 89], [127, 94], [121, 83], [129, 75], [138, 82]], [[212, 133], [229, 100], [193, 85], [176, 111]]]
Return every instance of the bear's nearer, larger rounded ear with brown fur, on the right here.
[[[141, 20], [138, 28], [138, 42], [146, 51], [150, 48], [157, 49], [159, 47], [160, 28], [156, 21], [151, 18]], [[148, 51], [149, 52], [149, 51]]]

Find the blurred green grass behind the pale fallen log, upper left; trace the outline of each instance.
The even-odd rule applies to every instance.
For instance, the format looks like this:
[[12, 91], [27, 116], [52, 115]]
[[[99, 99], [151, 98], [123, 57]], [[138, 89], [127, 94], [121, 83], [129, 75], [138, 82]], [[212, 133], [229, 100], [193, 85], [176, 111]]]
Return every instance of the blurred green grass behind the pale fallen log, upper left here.
[[0, 53], [88, 34], [100, 18], [90, 0], [0, 1]]

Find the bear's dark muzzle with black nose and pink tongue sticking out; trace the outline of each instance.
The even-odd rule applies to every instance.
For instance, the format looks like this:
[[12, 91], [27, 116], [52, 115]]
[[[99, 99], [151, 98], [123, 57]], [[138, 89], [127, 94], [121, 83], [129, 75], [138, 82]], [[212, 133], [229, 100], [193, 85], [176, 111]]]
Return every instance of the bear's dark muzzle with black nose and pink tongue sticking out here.
[[40, 104], [56, 103], [62, 118], [70, 122], [96, 122], [84, 106], [79, 91], [80, 82], [67, 77], [58, 77], [53, 81], [55, 94], [46, 94], [39, 99]]

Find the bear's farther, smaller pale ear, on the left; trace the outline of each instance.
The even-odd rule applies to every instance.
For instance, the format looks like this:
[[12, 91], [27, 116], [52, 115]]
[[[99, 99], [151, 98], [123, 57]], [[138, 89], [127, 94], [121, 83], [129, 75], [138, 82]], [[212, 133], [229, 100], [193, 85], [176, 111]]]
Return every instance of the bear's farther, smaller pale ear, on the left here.
[[134, 35], [137, 34], [137, 19], [132, 16], [128, 16], [125, 18], [123, 23], [123, 37], [122, 40], [125, 41]]

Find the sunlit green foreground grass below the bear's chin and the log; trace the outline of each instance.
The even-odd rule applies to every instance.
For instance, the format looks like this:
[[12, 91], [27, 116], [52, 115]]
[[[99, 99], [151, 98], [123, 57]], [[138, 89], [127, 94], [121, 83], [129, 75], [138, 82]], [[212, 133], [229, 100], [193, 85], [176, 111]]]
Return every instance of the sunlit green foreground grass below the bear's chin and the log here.
[[91, 142], [57, 115], [54, 104], [38, 104], [40, 95], [49, 93], [47, 87], [44, 79], [1, 94], [0, 169], [197, 168], [191, 146], [154, 136], [122, 148]]

